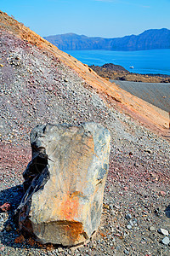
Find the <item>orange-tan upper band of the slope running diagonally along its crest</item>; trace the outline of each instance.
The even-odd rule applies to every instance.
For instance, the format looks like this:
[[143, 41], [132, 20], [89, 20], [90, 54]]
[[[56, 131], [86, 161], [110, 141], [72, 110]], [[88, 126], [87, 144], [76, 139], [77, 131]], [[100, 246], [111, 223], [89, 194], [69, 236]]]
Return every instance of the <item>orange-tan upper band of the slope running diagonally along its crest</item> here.
[[[57, 49], [53, 44], [48, 43], [35, 32], [31, 32], [29, 28], [20, 24], [17, 20], [5, 14], [2, 14], [0, 18], [2, 28], [14, 34], [17, 38], [24, 40], [25, 44], [31, 44], [31, 47], [33, 45], [36, 49], [42, 50], [42, 52], [48, 52], [48, 55], [53, 55], [53, 58], [58, 58], [67, 67], [71, 67], [82, 78], [83, 84], [85, 83], [84, 86], [94, 90], [100, 97], [105, 98], [108, 104], [116, 104], [116, 108], [126, 108], [128, 113], [141, 117], [143, 122], [150, 122], [150, 125], [158, 127], [159, 130], [167, 131], [165, 130], [165, 128], [168, 128], [167, 113], [160, 112], [159, 109], [139, 100], [135, 96], [131, 96], [125, 90], [121, 90], [116, 84], [111, 84], [109, 81], [102, 79], [88, 65], [82, 64], [71, 55]], [[43, 55], [45, 54], [43, 53]]]

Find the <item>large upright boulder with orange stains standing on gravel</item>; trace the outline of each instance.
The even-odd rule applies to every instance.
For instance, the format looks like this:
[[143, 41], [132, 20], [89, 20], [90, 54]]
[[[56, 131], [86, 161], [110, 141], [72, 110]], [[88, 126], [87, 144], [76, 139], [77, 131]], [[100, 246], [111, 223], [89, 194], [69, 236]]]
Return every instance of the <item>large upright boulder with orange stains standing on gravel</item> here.
[[110, 133], [102, 125], [38, 125], [23, 176], [20, 229], [42, 243], [72, 246], [99, 227]]

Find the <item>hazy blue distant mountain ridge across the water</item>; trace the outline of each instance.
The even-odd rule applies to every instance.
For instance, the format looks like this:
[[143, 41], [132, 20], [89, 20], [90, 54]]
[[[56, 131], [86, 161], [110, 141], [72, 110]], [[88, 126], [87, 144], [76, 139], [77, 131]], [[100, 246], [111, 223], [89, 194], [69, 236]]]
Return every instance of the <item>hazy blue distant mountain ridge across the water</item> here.
[[74, 33], [44, 37], [59, 49], [108, 49], [108, 50], [144, 50], [170, 49], [170, 30], [167, 28], [150, 29], [138, 36], [123, 38], [91, 38]]

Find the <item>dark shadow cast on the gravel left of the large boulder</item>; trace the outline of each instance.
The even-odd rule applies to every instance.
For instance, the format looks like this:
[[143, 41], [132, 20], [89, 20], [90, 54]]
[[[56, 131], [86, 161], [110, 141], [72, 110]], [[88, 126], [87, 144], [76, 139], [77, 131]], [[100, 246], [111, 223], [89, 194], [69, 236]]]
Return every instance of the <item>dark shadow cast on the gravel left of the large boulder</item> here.
[[[61, 245], [52, 246], [51, 244], [41, 245], [38, 242], [36, 242], [35, 237], [28, 236], [26, 234], [24, 234], [25, 236], [23, 236], [23, 234], [19, 230], [17, 216], [14, 215], [15, 210], [20, 205], [20, 201], [23, 195], [24, 195], [23, 185], [14, 186], [10, 189], [4, 189], [0, 191], [0, 206], [2, 206], [3, 203], [5, 202], [9, 202], [11, 204], [10, 210], [8, 212], [3, 212], [0, 210], [0, 238], [3, 246], [10, 247], [10, 250], [14, 250], [14, 248], [20, 248], [20, 249], [21, 248], [25, 248], [25, 249], [38, 248], [38, 249], [44, 249], [44, 250], [51, 250], [52, 248], [55, 249], [58, 247], [62, 247]], [[3, 225], [2, 225], [3, 216], [5, 217], [5, 221], [3, 222]], [[8, 219], [6, 219], [6, 217]], [[20, 237], [21, 237], [21, 240], [20, 240]], [[16, 242], [16, 240], [18, 241]], [[67, 247], [63, 247], [63, 248], [67, 248]], [[12, 255], [12, 254], [9, 254], [9, 255]], [[14, 251], [14, 255], [17, 255], [16, 251]]]

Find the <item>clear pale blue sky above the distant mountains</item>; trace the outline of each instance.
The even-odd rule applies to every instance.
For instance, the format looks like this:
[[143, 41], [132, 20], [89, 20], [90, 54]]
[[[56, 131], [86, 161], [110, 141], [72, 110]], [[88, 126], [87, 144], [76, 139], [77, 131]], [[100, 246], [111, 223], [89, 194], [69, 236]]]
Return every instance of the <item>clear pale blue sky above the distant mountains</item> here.
[[41, 36], [115, 38], [170, 29], [170, 0], [0, 0], [0, 9]]

